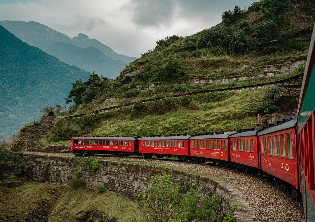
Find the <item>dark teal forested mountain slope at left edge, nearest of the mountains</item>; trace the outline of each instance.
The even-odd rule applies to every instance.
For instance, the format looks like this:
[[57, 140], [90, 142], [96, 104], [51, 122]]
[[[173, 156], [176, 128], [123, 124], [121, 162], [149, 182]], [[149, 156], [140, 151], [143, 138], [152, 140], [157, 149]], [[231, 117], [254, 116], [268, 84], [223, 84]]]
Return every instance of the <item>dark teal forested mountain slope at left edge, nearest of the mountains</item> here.
[[43, 106], [63, 104], [73, 79], [87, 80], [90, 73], [22, 42], [3, 26], [0, 33], [0, 138], [6, 138], [38, 119]]

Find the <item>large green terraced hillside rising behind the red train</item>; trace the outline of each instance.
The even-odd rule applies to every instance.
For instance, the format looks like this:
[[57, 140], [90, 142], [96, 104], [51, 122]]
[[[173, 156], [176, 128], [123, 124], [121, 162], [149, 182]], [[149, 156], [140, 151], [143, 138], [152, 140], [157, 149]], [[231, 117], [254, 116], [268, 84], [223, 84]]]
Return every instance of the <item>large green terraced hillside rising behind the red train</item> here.
[[[130, 63], [113, 82], [91, 75], [73, 84], [60, 117], [109, 106], [192, 92], [268, 83], [304, 71], [314, 24], [313, 1], [253, 3], [224, 12], [223, 22], [195, 35], [168, 36]], [[254, 127], [259, 113], [293, 111], [298, 93], [277, 86], [187, 95], [136, 103], [120, 110], [65, 120], [41, 144], [67, 143], [75, 135], [148, 136], [234, 131]], [[288, 105], [289, 104], [289, 105]]]

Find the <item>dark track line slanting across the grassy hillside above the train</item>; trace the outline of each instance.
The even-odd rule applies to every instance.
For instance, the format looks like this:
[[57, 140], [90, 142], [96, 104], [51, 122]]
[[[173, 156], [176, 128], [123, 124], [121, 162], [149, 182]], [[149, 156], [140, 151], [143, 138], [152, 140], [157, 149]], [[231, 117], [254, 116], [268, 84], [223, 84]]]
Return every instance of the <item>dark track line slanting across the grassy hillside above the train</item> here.
[[[263, 87], [266, 87], [268, 85], [278, 85], [279, 87], [289, 88], [289, 89], [301, 89], [301, 84], [292, 84], [292, 82], [294, 82], [296, 79], [299, 79], [301, 77], [303, 77], [303, 73], [289, 77], [289, 78], [286, 78], [286, 79], [277, 80], [277, 81], [273, 81], [273, 82], [269, 82], [269, 83], [260, 83], [260, 84], [253, 84], [253, 85], [247, 85], [247, 86], [223, 88], [223, 89], [206, 89], [206, 90], [198, 90], [198, 91], [189, 92], [189, 93], [181, 93], [181, 94], [175, 94], [175, 95], [169, 95], [169, 96], [161, 96], [161, 97], [152, 98], [152, 99], [146, 99], [146, 100], [140, 100], [140, 101], [136, 101], [136, 102], [124, 103], [124, 104], [117, 105], [117, 106], [110, 106], [110, 107], [94, 110], [94, 111], [91, 111], [88, 113], [77, 114], [77, 115], [72, 115], [72, 116], [65, 116], [62, 118], [63, 119], [79, 118], [79, 117], [85, 116], [87, 114], [97, 114], [97, 113], [107, 112], [107, 111], [114, 110], [114, 109], [122, 109], [122, 108], [132, 106], [136, 103], [140, 103], [140, 102], [146, 103], [146, 102], [151, 102], [151, 101], [159, 101], [159, 100], [163, 100], [164, 98], [178, 98], [178, 97], [186, 96], [186, 95], [198, 95], [198, 94], [206, 94], [206, 93], [214, 93], [214, 92], [239, 91], [242, 89], [263, 88]], [[291, 83], [291, 84], [285, 84], [285, 83]]]

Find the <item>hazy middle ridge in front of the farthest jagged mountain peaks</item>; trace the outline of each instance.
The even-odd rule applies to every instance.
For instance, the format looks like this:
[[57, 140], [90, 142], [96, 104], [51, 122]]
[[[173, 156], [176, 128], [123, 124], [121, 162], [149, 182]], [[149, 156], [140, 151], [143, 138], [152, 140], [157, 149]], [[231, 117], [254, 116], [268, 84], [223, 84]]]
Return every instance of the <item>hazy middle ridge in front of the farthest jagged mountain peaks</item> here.
[[85, 71], [96, 72], [111, 79], [115, 79], [126, 66], [125, 62], [113, 60], [92, 46], [80, 48], [71, 43], [55, 42], [46, 52], [69, 65], [84, 68]]

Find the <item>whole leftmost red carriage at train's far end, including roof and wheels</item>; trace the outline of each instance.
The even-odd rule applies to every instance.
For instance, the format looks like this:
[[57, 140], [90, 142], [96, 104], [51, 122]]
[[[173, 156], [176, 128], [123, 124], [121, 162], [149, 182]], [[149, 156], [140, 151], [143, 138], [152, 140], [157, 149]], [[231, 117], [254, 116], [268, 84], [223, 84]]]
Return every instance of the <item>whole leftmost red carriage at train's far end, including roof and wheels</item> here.
[[138, 152], [138, 143], [135, 137], [73, 137], [71, 151], [75, 155], [130, 155]]

